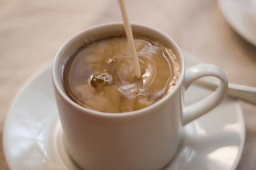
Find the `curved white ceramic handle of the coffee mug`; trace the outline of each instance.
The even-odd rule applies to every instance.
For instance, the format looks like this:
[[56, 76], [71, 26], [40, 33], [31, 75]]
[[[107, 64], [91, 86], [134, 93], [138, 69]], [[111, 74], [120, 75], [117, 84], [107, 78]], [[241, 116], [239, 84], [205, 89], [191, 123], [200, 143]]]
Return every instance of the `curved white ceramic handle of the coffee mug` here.
[[220, 84], [217, 89], [206, 98], [183, 108], [183, 126], [211, 111], [213, 108], [218, 106], [218, 104], [221, 103], [227, 95], [228, 80], [226, 75], [219, 67], [213, 64], [199, 64], [186, 69], [184, 90], [187, 90], [188, 87], [197, 79], [206, 76], [218, 78], [220, 80]]

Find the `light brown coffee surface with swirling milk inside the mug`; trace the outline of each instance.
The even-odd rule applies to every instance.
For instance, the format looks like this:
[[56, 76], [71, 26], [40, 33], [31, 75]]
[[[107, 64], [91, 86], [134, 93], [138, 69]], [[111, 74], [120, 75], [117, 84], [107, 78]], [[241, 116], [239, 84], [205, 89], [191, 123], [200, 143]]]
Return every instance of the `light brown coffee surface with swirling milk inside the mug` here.
[[91, 42], [65, 64], [63, 87], [69, 98], [100, 112], [121, 113], [150, 106], [179, 80], [179, 64], [171, 49], [134, 38], [142, 77], [137, 79], [126, 37]]

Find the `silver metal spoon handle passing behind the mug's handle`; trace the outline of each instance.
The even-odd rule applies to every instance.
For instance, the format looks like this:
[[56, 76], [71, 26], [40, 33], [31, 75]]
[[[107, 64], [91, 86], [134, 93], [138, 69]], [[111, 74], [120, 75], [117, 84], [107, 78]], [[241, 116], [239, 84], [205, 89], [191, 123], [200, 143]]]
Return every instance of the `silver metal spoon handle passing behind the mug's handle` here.
[[[210, 89], [218, 87], [218, 81], [211, 80], [197, 80], [197, 85], [204, 86]], [[228, 84], [228, 95], [237, 99], [256, 104], [256, 87], [245, 86], [240, 84]]]

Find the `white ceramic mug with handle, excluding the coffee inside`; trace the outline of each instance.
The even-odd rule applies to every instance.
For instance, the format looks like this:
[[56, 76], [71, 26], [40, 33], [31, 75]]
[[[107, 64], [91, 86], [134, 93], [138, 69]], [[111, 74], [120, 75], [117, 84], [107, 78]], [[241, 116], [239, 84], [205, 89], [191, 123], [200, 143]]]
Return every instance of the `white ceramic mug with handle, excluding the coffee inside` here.
[[[60, 85], [62, 64], [85, 41], [125, 35], [123, 24], [85, 30], [67, 41], [54, 60], [52, 81], [66, 145], [73, 160], [85, 170], [161, 169], [176, 153], [182, 127], [215, 108], [227, 94], [228, 82], [220, 68], [200, 64], [185, 70], [182, 52], [171, 38], [145, 26], [132, 25], [132, 30], [172, 49], [180, 65], [176, 87], [146, 108], [118, 114], [93, 111], [74, 103]], [[210, 96], [184, 107], [185, 90], [205, 76], [217, 77], [219, 87]]]

